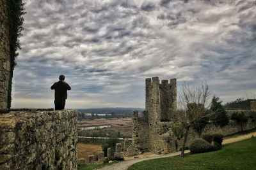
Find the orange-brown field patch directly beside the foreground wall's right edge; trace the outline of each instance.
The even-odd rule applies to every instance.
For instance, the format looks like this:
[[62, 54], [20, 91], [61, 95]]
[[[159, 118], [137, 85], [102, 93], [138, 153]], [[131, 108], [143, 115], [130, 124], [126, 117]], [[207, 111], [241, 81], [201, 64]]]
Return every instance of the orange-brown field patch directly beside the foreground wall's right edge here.
[[88, 162], [89, 155], [96, 155], [97, 152], [102, 151], [101, 145], [92, 145], [92, 144], [77, 144], [77, 153], [78, 158], [83, 158]]

